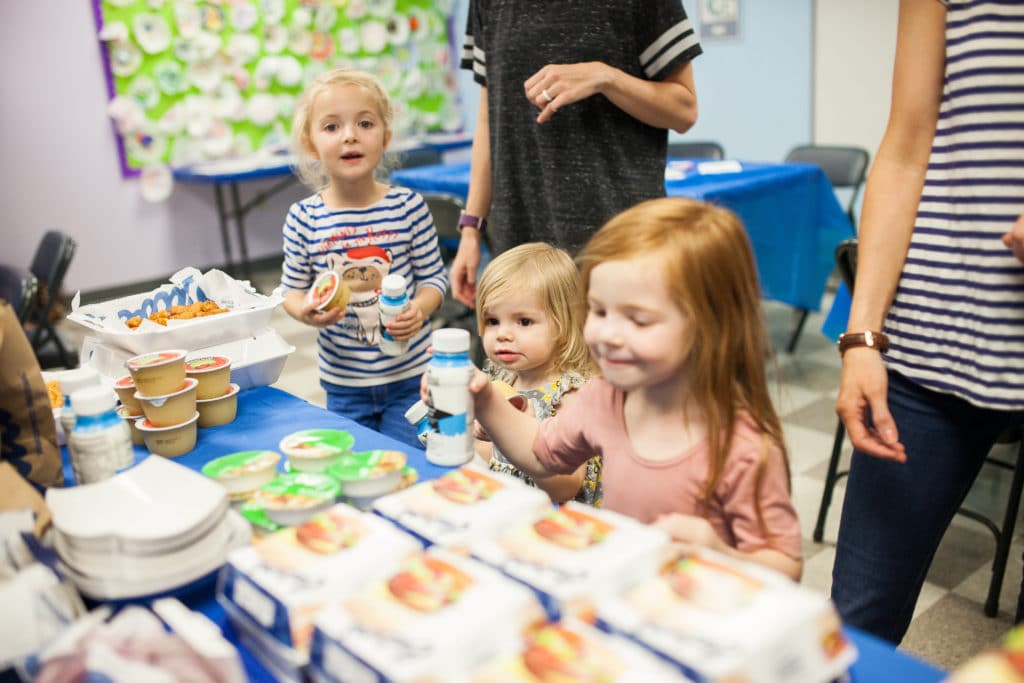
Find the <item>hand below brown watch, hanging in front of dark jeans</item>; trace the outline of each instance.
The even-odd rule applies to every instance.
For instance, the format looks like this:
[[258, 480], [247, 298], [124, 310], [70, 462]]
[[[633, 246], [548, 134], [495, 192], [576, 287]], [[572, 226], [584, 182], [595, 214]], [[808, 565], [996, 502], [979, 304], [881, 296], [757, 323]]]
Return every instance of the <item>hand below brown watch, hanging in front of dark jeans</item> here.
[[889, 413], [888, 388], [882, 354], [871, 348], [851, 348], [843, 356], [836, 413], [854, 446], [876, 458], [902, 463], [906, 452]]

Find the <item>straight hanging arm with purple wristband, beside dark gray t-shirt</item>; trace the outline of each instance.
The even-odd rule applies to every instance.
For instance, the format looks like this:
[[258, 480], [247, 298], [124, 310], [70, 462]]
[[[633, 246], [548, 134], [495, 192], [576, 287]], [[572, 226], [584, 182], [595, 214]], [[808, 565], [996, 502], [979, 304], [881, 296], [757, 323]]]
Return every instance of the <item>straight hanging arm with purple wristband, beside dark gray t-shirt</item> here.
[[[486, 216], [490, 210], [490, 127], [487, 118], [487, 88], [480, 86], [480, 102], [473, 132], [466, 213]], [[463, 227], [459, 251], [452, 262], [452, 296], [470, 308], [476, 299], [476, 270], [480, 265], [483, 236], [473, 227]]]

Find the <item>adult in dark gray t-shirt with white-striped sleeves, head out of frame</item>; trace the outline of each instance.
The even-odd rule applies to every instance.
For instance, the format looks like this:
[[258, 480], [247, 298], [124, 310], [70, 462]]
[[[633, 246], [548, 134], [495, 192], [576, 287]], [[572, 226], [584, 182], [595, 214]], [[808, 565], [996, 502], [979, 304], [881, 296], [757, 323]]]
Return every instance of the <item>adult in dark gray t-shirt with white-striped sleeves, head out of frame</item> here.
[[616, 213], [665, 196], [668, 129], [696, 121], [700, 51], [680, 0], [470, 0], [461, 66], [480, 102], [457, 299], [476, 294], [474, 218], [487, 217], [495, 253], [546, 242], [575, 254]]

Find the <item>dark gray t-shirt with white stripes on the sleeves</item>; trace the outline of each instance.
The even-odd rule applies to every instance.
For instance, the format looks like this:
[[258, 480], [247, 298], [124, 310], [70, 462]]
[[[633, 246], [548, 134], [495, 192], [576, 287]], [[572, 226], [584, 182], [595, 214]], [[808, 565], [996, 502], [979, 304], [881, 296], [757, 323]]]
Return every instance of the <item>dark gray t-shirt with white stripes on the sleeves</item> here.
[[679, 0], [471, 0], [462, 68], [487, 88], [495, 251], [547, 242], [575, 253], [616, 213], [665, 196], [667, 130], [603, 95], [538, 125], [526, 79], [603, 61], [659, 80], [700, 52]]

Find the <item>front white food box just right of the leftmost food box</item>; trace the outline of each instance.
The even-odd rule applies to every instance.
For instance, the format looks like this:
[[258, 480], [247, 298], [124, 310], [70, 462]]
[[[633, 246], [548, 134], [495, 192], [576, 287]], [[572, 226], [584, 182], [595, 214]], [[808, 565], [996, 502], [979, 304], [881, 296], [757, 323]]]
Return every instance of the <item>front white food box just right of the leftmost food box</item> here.
[[309, 669], [333, 683], [449, 683], [514, 652], [543, 614], [529, 589], [434, 548], [323, 610]]

